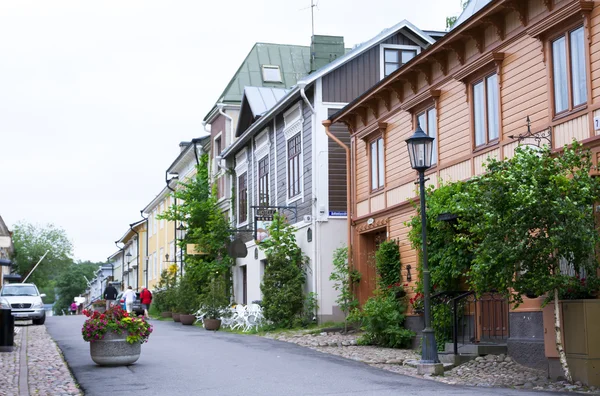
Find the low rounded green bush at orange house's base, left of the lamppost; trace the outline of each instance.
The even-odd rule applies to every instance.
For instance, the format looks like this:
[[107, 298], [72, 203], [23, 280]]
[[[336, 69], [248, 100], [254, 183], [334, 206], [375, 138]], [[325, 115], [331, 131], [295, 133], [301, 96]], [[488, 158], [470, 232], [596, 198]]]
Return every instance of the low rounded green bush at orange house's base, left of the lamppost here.
[[406, 304], [392, 293], [376, 291], [363, 305], [362, 311], [354, 310], [351, 321], [362, 322], [365, 334], [358, 338], [359, 345], [379, 345], [389, 348], [410, 346], [414, 333], [404, 328]]

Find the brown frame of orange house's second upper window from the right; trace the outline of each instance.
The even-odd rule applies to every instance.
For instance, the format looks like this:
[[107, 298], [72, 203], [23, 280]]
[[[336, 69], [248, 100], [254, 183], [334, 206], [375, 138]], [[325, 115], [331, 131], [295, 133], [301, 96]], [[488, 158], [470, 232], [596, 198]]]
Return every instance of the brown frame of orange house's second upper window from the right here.
[[[490, 129], [489, 129], [489, 124], [488, 124], [488, 119], [489, 119], [489, 103], [488, 103], [488, 79], [492, 76], [496, 76], [496, 89], [497, 89], [497, 106], [496, 106], [496, 112], [497, 112], [497, 120], [498, 120], [498, 136], [495, 137], [494, 139], [490, 139]], [[485, 149], [486, 147], [490, 147], [490, 146], [494, 146], [497, 145], [500, 142], [500, 139], [502, 137], [502, 111], [501, 111], [501, 98], [502, 98], [502, 92], [501, 92], [501, 84], [500, 84], [500, 78], [501, 78], [501, 74], [500, 74], [500, 70], [498, 70], [497, 68], [486, 68], [484, 70], [482, 70], [480, 73], [477, 73], [476, 75], [474, 75], [469, 81], [468, 81], [468, 92], [469, 92], [469, 111], [470, 111], [470, 123], [471, 123], [471, 137], [473, 139], [473, 144], [472, 144], [472, 149], [473, 151], [479, 151], [482, 149]], [[483, 125], [485, 128], [485, 142], [482, 144], [477, 144], [477, 131], [476, 131], [476, 125], [475, 125], [475, 86], [478, 85], [479, 83], [483, 83], [483, 98], [484, 98], [484, 103], [483, 103], [483, 109], [484, 109], [484, 118], [483, 118]]]

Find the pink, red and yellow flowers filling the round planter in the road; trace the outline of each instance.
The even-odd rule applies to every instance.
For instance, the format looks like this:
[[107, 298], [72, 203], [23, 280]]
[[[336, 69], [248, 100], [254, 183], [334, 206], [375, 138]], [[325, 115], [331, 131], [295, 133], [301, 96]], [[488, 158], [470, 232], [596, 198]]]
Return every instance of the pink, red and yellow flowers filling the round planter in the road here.
[[84, 341], [101, 340], [107, 332], [112, 331], [117, 334], [126, 332], [127, 342], [130, 344], [136, 342], [143, 344], [148, 341], [148, 337], [152, 333], [150, 323], [142, 317], [130, 316], [119, 305], [111, 307], [104, 313], [83, 310], [83, 314], [88, 317], [81, 328]]

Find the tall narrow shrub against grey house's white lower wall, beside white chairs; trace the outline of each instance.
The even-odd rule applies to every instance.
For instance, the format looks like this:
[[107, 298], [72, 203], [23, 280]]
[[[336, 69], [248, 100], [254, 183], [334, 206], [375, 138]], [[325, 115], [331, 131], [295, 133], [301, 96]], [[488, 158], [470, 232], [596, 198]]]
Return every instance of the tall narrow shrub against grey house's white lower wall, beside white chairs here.
[[269, 238], [259, 246], [267, 257], [260, 285], [265, 318], [277, 326], [292, 327], [304, 305], [306, 257], [296, 244], [294, 228], [277, 213], [269, 226]]

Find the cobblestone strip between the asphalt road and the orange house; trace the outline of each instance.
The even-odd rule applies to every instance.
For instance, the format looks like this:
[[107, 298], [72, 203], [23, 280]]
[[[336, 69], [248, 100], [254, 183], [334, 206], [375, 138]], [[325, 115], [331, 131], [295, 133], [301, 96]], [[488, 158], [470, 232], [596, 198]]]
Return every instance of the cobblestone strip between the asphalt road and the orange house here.
[[[375, 346], [356, 345], [357, 334], [319, 333], [306, 331], [283, 334], [266, 334], [265, 337], [291, 342], [323, 353], [338, 355], [367, 363], [383, 370], [398, 374], [420, 377], [416, 368], [407, 362], [418, 360], [420, 356], [413, 350], [391, 349]], [[577, 382], [551, 381], [544, 371], [535, 370], [514, 362], [509, 356], [487, 355], [464, 363], [444, 373], [444, 376], [425, 376], [433, 381], [453, 385], [481, 387], [506, 387], [547, 391], [571, 391], [600, 394], [595, 387], [587, 387]]]

